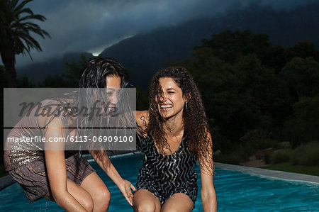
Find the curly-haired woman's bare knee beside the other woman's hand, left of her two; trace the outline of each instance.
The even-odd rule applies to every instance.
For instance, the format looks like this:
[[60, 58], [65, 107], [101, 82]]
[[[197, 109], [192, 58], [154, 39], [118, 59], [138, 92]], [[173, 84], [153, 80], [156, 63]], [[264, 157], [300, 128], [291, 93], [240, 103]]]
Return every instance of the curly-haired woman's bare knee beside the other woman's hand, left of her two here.
[[135, 212], [159, 212], [161, 203], [150, 191], [140, 189], [134, 194], [133, 208]]

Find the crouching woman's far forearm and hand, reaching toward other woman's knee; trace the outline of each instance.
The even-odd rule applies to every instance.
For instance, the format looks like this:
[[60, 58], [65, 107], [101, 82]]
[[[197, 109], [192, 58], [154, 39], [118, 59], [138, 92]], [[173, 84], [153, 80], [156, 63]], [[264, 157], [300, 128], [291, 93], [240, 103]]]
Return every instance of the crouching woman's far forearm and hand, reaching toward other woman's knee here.
[[90, 154], [92, 155], [96, 163], [99, 164], [101, 169], [103, 169], [108, 177], [110, 177], [116, 184], [116, 186], [118, 186], [118, 189], [120, 189], [126, 201], [128, 201], [128, 203], [133, 206], [133, 194], [130, 189], [133, 189], [133, 191], [135, 191], [136, 189], [130, 182], [123, 179], [120, 174], [118, 174], [118, 171], [113, 166], [110, 158], [108, 157], [108, 154], [106, 153], [106, 150], [91, 150]]

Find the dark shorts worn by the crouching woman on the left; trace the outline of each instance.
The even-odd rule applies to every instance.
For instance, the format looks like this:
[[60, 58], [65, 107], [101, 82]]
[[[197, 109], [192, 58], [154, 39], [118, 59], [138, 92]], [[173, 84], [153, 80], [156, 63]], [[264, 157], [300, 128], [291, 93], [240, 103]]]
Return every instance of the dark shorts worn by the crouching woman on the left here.
[[[67, 178], [81, 185], [92, 172], [96, 172], [89, 162], [79, 155], [71, 155], [65, 160]], [[44, 160], [35, 160], [9, 172], [11, 177], [20, 184], [30, 203], [43, 199], [50, 191]]]

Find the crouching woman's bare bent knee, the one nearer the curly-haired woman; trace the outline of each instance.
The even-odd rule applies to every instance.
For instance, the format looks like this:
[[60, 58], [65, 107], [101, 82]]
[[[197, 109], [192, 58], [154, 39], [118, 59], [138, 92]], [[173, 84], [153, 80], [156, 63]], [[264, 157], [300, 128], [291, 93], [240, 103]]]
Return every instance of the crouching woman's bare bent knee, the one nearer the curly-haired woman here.
[[94, 202], [93, 211], [107, 211], [111, 199], [111, 193], [95, 172], [84, 179], [81, 187], [91, 195]]

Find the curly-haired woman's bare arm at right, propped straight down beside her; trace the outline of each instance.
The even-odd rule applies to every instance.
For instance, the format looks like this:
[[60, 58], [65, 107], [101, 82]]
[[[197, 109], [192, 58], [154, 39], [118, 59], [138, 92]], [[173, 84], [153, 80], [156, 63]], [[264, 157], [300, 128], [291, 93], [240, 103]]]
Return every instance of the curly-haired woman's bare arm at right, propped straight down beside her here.
[[[210, 143], [211, 133], [208, 133]], [[201, 160], [201, 201], [203, 204], [203, 211], [217, 211], [216, 192], [213, 184], [213, 145], [208, 147], [208, 155], [211, 157], [203, 158]]]

